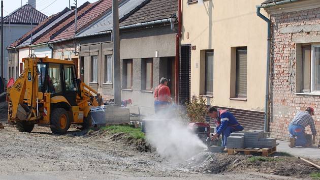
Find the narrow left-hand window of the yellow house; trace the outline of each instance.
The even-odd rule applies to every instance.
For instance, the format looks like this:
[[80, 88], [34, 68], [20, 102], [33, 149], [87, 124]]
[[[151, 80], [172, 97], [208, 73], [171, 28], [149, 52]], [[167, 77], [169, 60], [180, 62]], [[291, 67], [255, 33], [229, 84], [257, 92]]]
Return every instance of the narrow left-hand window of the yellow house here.
[[206, 52], [205, 94], [213, 95], [213, 51]]

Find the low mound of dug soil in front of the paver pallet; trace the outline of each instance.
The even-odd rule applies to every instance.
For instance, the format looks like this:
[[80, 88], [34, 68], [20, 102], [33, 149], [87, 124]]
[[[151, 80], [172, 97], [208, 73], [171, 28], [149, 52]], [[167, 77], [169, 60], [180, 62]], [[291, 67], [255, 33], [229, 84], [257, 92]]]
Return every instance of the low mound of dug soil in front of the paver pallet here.
[[320, 172], [296, 157], [260, 157], [206, 152], [184, 162], [184, 168], [211, 174], [247, 171], [292, 177], [307, 177], [312, 172]]

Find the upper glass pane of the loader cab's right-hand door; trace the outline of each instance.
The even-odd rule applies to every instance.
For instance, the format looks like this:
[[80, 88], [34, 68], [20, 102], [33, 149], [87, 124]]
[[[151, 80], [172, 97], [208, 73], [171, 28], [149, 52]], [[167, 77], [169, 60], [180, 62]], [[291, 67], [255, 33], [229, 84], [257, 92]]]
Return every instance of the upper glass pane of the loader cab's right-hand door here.
[[66, 91], [77, 91], [76, 74], [74, 66], [65, 65], [63, 68], [63, 74], [65, 76]]

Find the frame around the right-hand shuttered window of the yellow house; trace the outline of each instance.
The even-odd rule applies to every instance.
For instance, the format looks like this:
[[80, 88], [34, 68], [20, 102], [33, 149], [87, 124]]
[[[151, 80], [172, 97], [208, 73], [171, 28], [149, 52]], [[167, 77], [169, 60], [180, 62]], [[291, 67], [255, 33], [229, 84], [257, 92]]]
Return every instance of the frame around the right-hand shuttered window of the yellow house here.
[[[238, 84], [238, 77], [239, 77], [239, 53], [238, 51], [241, 50], [246, 50], [246, 55], [247, 55], [247, 59], [246, 59], [246, 94], [242, 95], [239, 93], [239, 84]], [[236, 84], [235, 84], [235, 97], [236, 98], [247, 98], [248, 96], [248, 47], [247, 46], [243, 46], [243, 47], [237, 47], [236, 48]]]

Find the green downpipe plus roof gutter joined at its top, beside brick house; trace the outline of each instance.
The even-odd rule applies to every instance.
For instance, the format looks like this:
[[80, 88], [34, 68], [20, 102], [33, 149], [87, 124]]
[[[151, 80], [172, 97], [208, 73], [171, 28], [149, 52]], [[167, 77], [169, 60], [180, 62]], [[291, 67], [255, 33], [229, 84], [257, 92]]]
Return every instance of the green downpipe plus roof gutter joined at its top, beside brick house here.
[[299, 0], [285, 0], [281, 2], [274, 2], [270, 4], [257, 6], [257, 16], [268, 23], [268, 43], [267, 43], [267, 74], [266, 74], [266, 99], [265, 99], [265, 126], [264, 131], [269, 131], [269, 89], [270, 89], [270, 56], [271, 56], [271, 20], [260, 13], [261, 8], [270, 8], [278, 5], [294, 3]]

